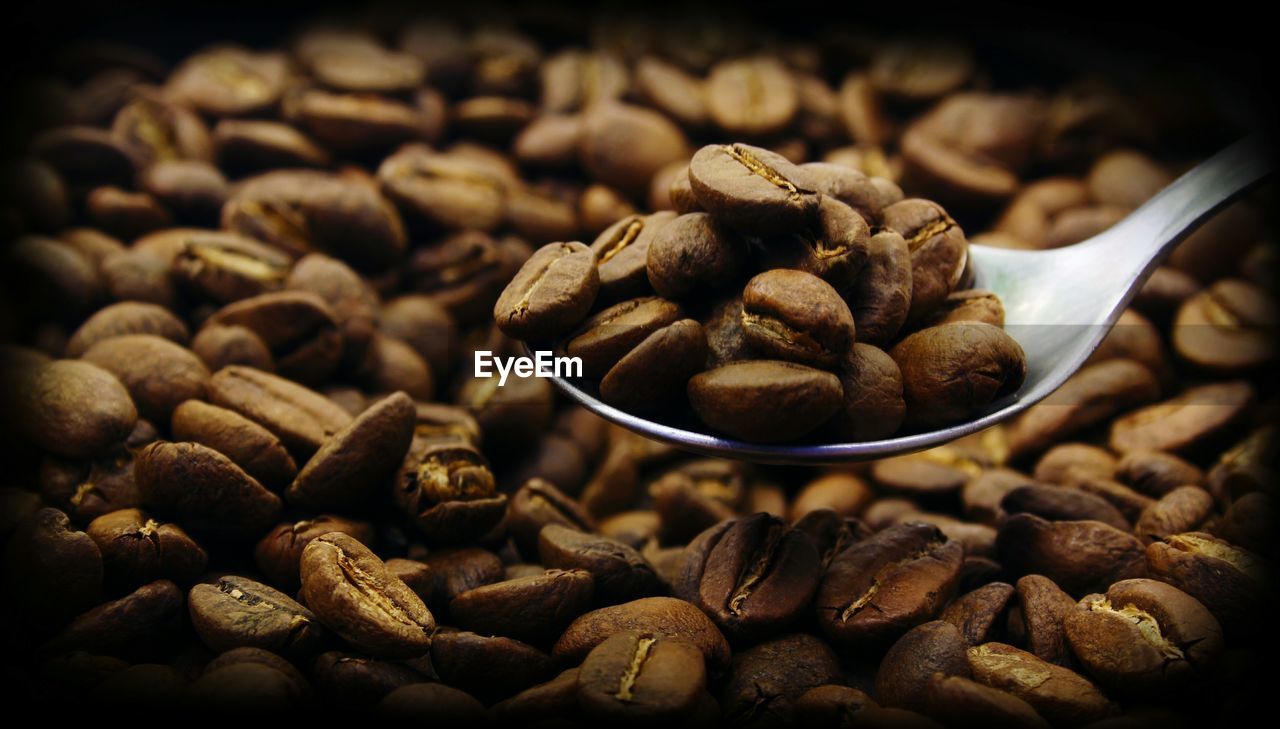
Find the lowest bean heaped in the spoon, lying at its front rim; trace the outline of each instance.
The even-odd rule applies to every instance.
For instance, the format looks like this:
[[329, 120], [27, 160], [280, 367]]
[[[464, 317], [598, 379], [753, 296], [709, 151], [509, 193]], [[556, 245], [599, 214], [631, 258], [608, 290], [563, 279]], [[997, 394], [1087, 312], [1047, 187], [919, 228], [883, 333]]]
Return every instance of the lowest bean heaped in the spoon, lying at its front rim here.
[[800, 437], [836, 414], [840, 379], [774, 359], [722, 364], [689, 380], [689, 402], [708, 426], [753, 443]]

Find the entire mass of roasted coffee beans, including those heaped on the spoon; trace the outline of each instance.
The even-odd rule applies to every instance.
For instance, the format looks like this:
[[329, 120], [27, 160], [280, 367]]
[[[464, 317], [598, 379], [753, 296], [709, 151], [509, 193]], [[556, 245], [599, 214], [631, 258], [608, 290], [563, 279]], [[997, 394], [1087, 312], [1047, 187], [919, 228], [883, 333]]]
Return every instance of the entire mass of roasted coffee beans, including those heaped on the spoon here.
[[545, 341], [621, 407], [687, 396], [762, 441], [968, 417], [1020, 357], [966, 239], [1064, 246], [1140, 205], [1236, 133], [1193, 81], [511, 18], [42, 49], [0, 196], [10, 709], [1167, 728], [1271, 703], [1268, 191], [1048, 400], [919, 454], [694, 458], [472, 371]]

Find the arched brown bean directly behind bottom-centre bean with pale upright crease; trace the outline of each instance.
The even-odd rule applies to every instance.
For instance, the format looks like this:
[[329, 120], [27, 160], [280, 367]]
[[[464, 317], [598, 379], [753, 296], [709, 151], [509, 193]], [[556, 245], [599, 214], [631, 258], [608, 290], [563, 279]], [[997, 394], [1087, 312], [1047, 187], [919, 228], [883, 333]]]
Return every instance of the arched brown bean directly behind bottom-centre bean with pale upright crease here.
[[644, 597], [586, 613], [561, 633], [552, 656], [577, 662], [609, 636], [623, 631], [692, 643], [707, 659], [713, 675], [728, 666], [730, 648], [724, 636], [698, 608], [675, 597]]

